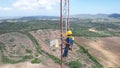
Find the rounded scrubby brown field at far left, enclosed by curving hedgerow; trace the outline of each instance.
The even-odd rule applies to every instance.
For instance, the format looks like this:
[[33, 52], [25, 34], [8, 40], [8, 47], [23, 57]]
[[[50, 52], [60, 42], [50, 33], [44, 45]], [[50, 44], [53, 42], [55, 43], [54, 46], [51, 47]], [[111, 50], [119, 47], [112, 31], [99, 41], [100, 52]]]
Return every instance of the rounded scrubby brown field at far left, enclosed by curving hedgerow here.
[[0, 47], [3, 63], [16, 63], [32, 58], [36, 53], [32, 41], [24, 34], [18, 32], [0, 35]]

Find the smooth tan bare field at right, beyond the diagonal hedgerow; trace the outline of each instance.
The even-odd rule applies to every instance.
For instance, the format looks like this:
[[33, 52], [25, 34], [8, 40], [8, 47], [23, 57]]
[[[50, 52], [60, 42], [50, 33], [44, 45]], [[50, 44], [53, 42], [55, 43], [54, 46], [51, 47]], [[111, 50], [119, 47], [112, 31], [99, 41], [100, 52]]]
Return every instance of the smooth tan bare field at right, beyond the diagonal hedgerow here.
[[76, 37], [76, 41], [85, 47], [90, 54], [96, 57], [105, 68], [120, 67], [120, 37], [97, 38], [91, 40]]

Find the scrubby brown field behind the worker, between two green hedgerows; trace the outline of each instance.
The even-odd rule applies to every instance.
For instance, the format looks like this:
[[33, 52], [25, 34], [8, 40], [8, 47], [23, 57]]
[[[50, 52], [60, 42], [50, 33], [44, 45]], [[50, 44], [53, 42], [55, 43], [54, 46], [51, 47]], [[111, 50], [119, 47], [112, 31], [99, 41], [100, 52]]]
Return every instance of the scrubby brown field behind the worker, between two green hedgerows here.
[[[60, 46], [56, 48], [56, 50], [53, 50], [53, 48], [49, 45], [51, 40], [60, 39], [60, 33], [58, 30], [37, 30], [30, 33], [38, 40], [43, 50], [60, 58]], [[89, 56], [76, 44], [74, 44], [73, 51], [69, 51], [68, 57], [64, 58], [63, 61], [65, 64], [69, 64], [71, 61], [79, 61], [82, 64], [82, 68], [92, 68], [99, 66], [99, 64], [91, 60], [91, 58], [89, 58]]]

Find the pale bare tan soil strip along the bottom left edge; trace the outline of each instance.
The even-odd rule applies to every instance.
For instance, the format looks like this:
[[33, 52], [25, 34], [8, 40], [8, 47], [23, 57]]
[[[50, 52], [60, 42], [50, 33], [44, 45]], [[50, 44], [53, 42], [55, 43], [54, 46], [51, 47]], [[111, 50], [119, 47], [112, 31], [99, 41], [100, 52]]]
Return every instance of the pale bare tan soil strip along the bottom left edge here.
[[[17, 64], [1, 64], [0, 68], [60, 68], [60, 65], [54, 63], [53, 60], [47, 59], [47, 63], [31, 64], [30, 62], [22, 62]], [[67, 68], [67, 67], [66, 67]]]

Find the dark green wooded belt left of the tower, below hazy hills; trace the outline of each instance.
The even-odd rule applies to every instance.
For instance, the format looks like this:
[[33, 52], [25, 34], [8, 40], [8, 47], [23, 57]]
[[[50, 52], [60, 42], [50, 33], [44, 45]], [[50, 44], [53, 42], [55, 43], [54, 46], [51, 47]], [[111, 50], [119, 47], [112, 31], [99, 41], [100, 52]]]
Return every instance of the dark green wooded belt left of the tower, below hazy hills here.
[[53, 20], [31, 20], [28, 22], [2, 22], [0, 23], [0, 34], [18, 31], [33, 31], [39, 29], [58, 29], [59, 21]]

